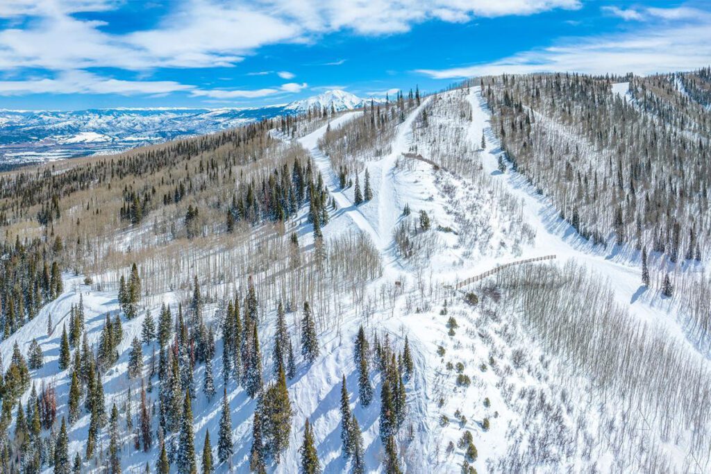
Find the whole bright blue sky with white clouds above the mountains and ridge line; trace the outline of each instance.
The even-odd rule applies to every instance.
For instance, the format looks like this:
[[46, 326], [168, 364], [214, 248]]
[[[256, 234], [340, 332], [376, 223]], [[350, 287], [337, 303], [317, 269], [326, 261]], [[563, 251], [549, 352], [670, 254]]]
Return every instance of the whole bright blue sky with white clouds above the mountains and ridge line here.
[[254, 107], [711, 63], [711, 1], [1, 0], [0, 108]]

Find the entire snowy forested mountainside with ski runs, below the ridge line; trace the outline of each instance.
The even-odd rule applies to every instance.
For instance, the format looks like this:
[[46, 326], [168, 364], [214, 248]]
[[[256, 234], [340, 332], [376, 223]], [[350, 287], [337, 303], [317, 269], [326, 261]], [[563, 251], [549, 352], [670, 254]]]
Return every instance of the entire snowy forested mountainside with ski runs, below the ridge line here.
[[481, 77], [4, 173], [1, 470], [705, 472], [709, 84]]

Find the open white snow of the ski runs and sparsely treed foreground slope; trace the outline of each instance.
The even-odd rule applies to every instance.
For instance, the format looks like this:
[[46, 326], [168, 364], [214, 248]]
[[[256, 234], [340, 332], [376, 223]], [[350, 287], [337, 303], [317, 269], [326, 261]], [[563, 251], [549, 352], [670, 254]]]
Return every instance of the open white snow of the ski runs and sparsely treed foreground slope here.
[[[615, 92], [623, 89], [617, 87]], [[373, 301], [372, 307], [356, 305], [349, 294], [329, 296], [338, 301], [341, 319], [336, 327], [319, 333], [318, 360], [311, 365], [300, 361], [296, 377], [287, 383], [294, 410], [289, 447], [282, 462], [270, 465], [269, 472], [298, 472], [298, 448], [306, 418], [314, 426], [324, 472], [348, 470], [349, 461], [341, 455], [342, 376], [348, 384], [351, 408], [363, 429], [367, 471], [383, 472], [378, 424], [381, 375], [374, 372], [375, 402], [370, 406], [360, 404], [357, 389], [353, 340], [361, 324], [369, 335], [390, 335], [397, 350], [407, 335], [413, 350], [414, 376], [406, 383], [407, 419], [398, 437], [400, 463], [407, 473], [461, 472], [464, 449], [457, 445], [467, 431], [479, 451], [472, 462], [479, 473], [536, 469], [646, 471], [642, 466], [648, 465], [645, 463], [649, 453], [656, 450], [672, 466], [665, 472], [682, 470], [687, 465], [688, 439], [665, 440], [643, 426], [638, 433], [637, 427], [635, 433], [626, 432], [629, 419], [617, 411], [623, 405], [621, 401], [600, 398], [597, 387], [585, 375], [571, 375], [570, 361], [547, 351], [533, 330], [522, 323], [516, 309], [498, 300], [500, 289], [481, 289], [478, 306], [469, 305], [461, 293], [451, 291], [449, 285], [456, 281], [498, 265], [555, 254], [559, 262], [583, 265], [594, 278], [614, 283], [611, 295], [615, 303], [629, 309], [632, 322], [646, 324], [641, 330], [659, 330], [693, 354], [699, 364], [707, 363], [705, 355], [687, 342], [670, 302], [646, 294], [639, 284], [636, 262], [618, 258], [614, 248], [594, 247], [584, 241], [506, 161], [501, 171], [499, 158], [505, 152], [493, 134], [479, 87], [427, 97], [412, 109], [397, 125], [390, 152], [363, 159], [374, 194], [373, 199], [355, 205], [353, 187], [340, 188], [331, 160], [319, 149], [319, 139], [328, 129], [348, 124], [360, 114], [341, 114], [296, 143], [311, 155], [336, 203], [330, 222], [323, 228], [324, 239], [348, 234], [367, 236], [380, 256], [383, 273], [358, 290], [362, 291], [363, 300]], [[413, 157], [417, 156], [415, 152], [419, 158]], [[433, 167], [432, 161], [439, 166]], [[365, 170], [360, 171], [359, 177], [364, 183]], [[411, 215], [403, 212], [405, 208], [411, 210]], [[420, 212], [426, 212], [432, 220], [427, 232], [417, 230]], [[405, 257], [394, 235], [400, 227], [410, 229], [413, 225], [416, 230], [410, 237], [415, 251], [413, 256]], [[296, 232], [300, 246], [309, 248], [314, 244], [311, 229], [305, 219], [299, 220]], [[129, 233], [126, 238], [130, 240], [132, 236], [135, 234]], [[90, 344], [98, 342], [106, 314], [118, 311], [115, 291], [92, 291], [81, 281], [81, 277], [66, 275], [66, 291], [0, 344], [3, 359], [9, 360], [15, 342], [25, 352], [31, 340], [38, 339], [46, 365], [33, 371], [33, 381], [55, 383], [60, 415], [66, 412], [68, 381], [67, 372], [57, 367], [58, 345], [71, 304], [83, 299]], [[156, 316], [161, 302], [174, 303], [178, 299], [178, 291], [154, 295], [144, 309]], [[218, 309], [217, 305], [206, 308], [208, 323]], [[119, 362], [104, 376], [107, 404], [123, 402], [126, 397], [130, 383], [126, 376], [129, 345], [140, 334], [144, 314], [141, 311], [134, 320], [124, 321]], [[53, 324], [48, 330], [50, 315]], [[451, 324], [450, 318], [456, 319], [456, 325]], [[298, 332], [297, 320], [294, 313], [287, 318], [289, 330], [294, 333]], [[259, 328], [266, 379], [271, 378], [273, 326], [274, 311], [267, 310]], [[145, 365], [149, 364], [151, 350], [151, 345], [144, 345]], [[215, 375], [221, 367], [221, 357], [222, 343], [218, 340], [213, 360]], [[459, 382], [459, 372], [469, 382]], [[198, 384], [203, 374], [204, 365], [198, 365]], [[222, 378], [215, 376], [218, 394], [222, 393], [223, 384]], [[235, 441], [232, 465], [236, 472], [247, 472], [256, 403], [233, 380], [227, 382], [226, 389]], [[137, 392], [133, 397], [137, 404]], [[156, 400], [155, 391], [150, 397]], [[134, 413], [135, 409], [134, 406]], [[200, 456], [205, 431], [209, 431], [213, 447], [216, 445], [220, 397], [208, 400], [200, 392], [193, 403], [193, 415]], [[72, 455], [82, 452], [88, 423], [89, 415], [84, 414], [71, 426]], [[106, 435], [103, 436], [105, 441]], [[634, 451], [634, 461], [629, 464], [620, 464], [619, 459], [625, 455], [614, 452], [619, 439], [624, 439], [622, 451], [642, 446]], [[151, 468], [154, 466], [155, 448], [143, 453], [134, 450], [128, 437], [123, 441], [124, 472], [142, 472], [146, 462]], [[656, 448], [648, 449], [647, 443]], [[218, 465], [216, 471], [228, 472], [228, 466]]]

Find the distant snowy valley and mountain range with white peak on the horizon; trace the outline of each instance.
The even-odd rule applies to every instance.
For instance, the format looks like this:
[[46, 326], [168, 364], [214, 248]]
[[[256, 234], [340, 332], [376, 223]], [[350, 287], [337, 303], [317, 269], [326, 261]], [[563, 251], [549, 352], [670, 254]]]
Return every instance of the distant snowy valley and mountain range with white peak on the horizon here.
[[[370, 99], [367, 99], [368, 101]], [[351, 110], [361, 99], [329, 90], [289, 104], [223, 109], [88, 109], [69, 112], [0, 109], [0, 168], [76, 156], [119, 153], [136, 146], [209, 134], [262, 118], [319, 109]]]

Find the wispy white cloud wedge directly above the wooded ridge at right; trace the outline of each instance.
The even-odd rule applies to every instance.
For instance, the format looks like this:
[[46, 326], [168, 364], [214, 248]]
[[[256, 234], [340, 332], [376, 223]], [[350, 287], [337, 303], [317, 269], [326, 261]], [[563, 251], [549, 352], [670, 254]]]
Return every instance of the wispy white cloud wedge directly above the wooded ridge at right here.
[[572, 38], [550, 48], [529, 50], [508, 58], [443, 70], [417, 72], [436, 79], [459, 79], [503, 72], [585, 72], [647, 75], [690, 70], [711, 62], [711, 15], [697, 15], [682, 24], [651, 25], [625, 34]]

